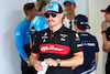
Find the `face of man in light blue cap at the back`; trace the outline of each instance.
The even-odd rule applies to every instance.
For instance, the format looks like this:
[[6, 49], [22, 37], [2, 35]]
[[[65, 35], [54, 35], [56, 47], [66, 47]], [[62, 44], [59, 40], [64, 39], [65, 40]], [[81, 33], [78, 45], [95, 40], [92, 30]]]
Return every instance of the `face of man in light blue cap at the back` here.
[[69, 14], [69, 13], [73, 13], [75, 11], [76, 4], [70, 3], [70, 2], [66, 2], [64, 4], [64, 7], [65, 7], [66, 13]]

